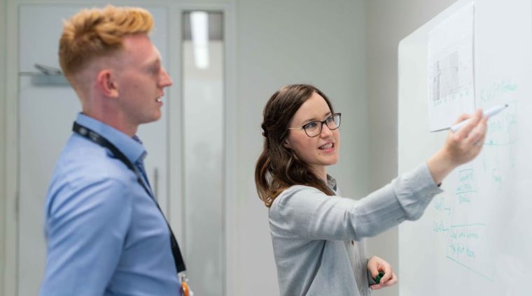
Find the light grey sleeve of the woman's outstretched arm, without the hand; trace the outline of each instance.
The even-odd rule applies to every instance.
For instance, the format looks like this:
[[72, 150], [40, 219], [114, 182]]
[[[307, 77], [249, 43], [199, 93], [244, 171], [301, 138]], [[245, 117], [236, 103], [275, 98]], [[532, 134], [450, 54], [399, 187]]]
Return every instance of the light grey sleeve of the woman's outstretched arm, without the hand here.
[[440, 192], [425, 163], [360, 200], [293, 186], [270, 207], [270, 230], [279, 237], [358, 241], [419, 219]]

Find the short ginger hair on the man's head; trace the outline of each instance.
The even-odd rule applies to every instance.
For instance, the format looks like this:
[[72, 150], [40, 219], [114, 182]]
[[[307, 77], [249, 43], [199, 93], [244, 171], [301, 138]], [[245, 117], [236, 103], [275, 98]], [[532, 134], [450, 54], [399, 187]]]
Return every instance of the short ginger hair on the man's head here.
[[142, 8], [109, 5], [81, 10], [64, 21], [59, 39], [59, 64], [64, 75], [71, 80], [92, 59], [120, 50], [125, 36], [148, 34], [152, 28], [153, 17]]

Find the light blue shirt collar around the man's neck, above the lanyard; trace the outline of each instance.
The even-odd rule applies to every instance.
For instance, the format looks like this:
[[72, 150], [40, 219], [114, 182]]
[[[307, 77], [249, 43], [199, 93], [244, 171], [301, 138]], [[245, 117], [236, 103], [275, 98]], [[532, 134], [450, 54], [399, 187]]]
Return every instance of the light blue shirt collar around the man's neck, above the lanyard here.
[[144, 146], [137, 135], [134, 135], [134, 138], [137, 138], [137, 140], [135, 140], [125, 133], [118, 131], [116, 128], [82, 113], [78, 114], [76, 122], [102, 135], [102, 137], [106, 138], [111, 144], [115, 145], [116, 148], [118, 148], [132, 163], [142, 161], [144, 160], [144, 157], [146, 157], [146, 149], [144, 149]]

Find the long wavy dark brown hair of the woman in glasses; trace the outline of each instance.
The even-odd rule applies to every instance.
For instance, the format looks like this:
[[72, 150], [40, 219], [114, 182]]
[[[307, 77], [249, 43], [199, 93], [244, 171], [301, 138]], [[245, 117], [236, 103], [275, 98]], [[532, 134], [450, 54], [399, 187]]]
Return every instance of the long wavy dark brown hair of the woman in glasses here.
[[327, 96], [309, 84], [290, 84], [282, 87], [269, 98], [262, 112], [264, 149], [255, 166], [255, 186], [266, 207], [270, 207], [284, 189], [293, 185], [312, 186], [327, 195], [334, 195], [327, 184], [314, 175], [309, 165], [302, 161], [293, 149], [283, 145], [288, 137], [288, 124], [292, 117], [314, 93], [322, 96], [330, 112], [334, 113]]

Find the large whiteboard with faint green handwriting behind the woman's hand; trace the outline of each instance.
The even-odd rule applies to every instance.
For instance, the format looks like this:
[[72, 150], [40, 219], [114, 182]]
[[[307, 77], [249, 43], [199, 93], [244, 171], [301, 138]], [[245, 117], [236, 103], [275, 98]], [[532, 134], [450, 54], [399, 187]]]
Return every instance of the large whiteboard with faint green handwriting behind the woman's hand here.
[[475, 107], [510, 107], [489, 120], [482, 153], [444, 179], [421, 219], [400, 225], [402, 296], [532, 295], [531, 1], [460, 0], [401, 40], [398, 170], [444, 142], [446, 132], [428, 131], [428, 36], [471, 3]]

